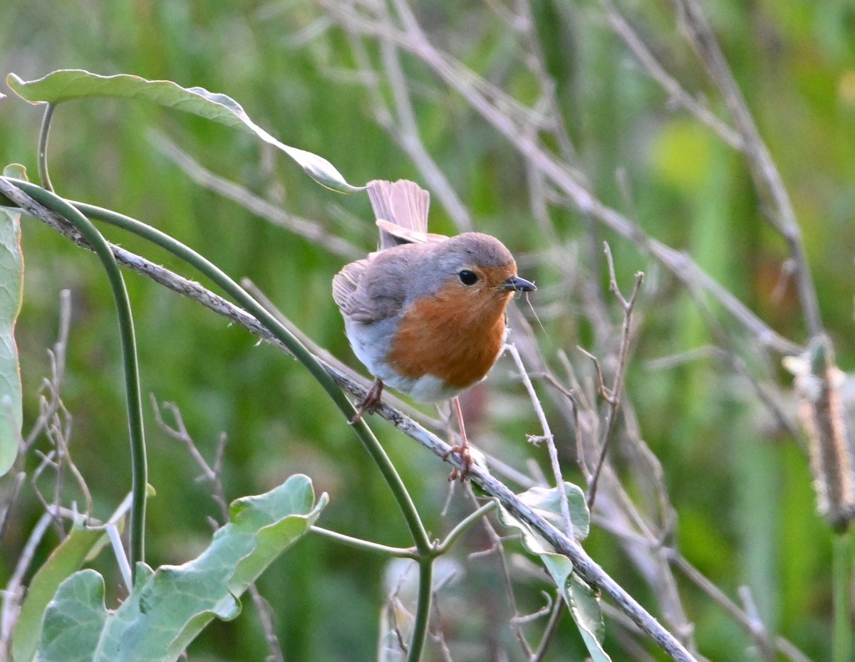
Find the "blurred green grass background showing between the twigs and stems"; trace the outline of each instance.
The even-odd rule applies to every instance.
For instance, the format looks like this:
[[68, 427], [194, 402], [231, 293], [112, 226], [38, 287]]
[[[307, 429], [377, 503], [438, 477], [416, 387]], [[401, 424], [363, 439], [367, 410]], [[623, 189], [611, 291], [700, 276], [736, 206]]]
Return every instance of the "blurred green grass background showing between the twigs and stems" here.
[[[607, 204], [628, 209], [653, 237], [693, 255], [775, 330], [804, 342], [793, 291], [773, 296], [787, 249], [765, 223], [740, 155], [686, 114], [669, 109], [663, 91], [605, 25], [598, 3], [537, 3], [537, 9], [545, 58], [572, 118], [569, 132], [593, 190]], [[842, 2], [775, 0], [746, 6], [716, 0], [706, 9], [793, 197], [823, 319], [845, 369], [855, 352], [855, 14]], [[507, 66], [510, 44], [489, 9], [445, 2], [424, 3], [416, 10], [439, 44], [522, 100], [531, 100], [527, 79], [517, 78]], [[720, 109], [677, 32], [673, 9], [634, 3], [628, 11], [644, 26], [666, 67]], [[420, 179], [371, 119], [363, 88], [343, 75], [353, 64], [345, 38], [311, 3], [111, 0], [84, 8], [12, 0], [3, 4], [0, 16], [3, 75], [34, 79], [57, 68], [80, 67], [200, 85], [238, 100], [282, 142], [327, 157], [352, 184]], [[426, 89], [434, 84], [416, 62], [408, 63], [407, 73]], [[416, 112], [428, 151], [477, 229], [501, 237], [521, 255], [524, 270], [532, 263], [527, 256], [546, 246], [534, 230], [519, 157], [451, 92], [417, 96]], [[20, 161], [35, 173], [40, 118], [38, 108], [20, 100], [0, 102], [3, 163]], [[68, 103], [54, 120], [50, 167], [60, 195], [144, 220], [233, 277], [251, 278], [316, 343], [356, 365], [329, 293], [330, 278], [344, 261], [194, 185], [151, 144], [153, 128], [215, 173], [289, 212], [318, 220], [366, 251], [374, 246], [367, 197], [322, 189], [291, 161], [245, 135], [142, 103]], [[616, 184], [617, 168], [627, 173], [630, 201]], [[435, 198], [432, 223], [435, 231], [455, 231]], [[579, 259], [589, 259], [579, 248], [587, 220], [564, 214], [556, 225], [561, 238], [577, 247]], [[105, 234], [178, 267], [131, 237]], [[750, 586], [777, 630], [814, 659], [827, 659], [830, 534], [814, 512], [805, 454], [789, 436], [761, 433], [769, 426], [758, 423], [762, 412], [750, 403], [748, 387], [721, 364], [701, 359], [671, 369], [652, 366], [651, 360], [713, 342], [710, 332], [693, 302], [646, 255], [608, 233], [601, 235], [612, 242], [622, 283], [644, 270], [657, 292], [655, 300], [640, 303], [628, 394], [644, 438], [663, 462], [679, 513], [683, 553], [729, 595], [741, 584]], [[74, 416], [74, 459], [93, 491], [96, 514], [105, 516], [130, 483], [109, 290], [92, 255], [31, 220], [25, 220], [23, 237], [27, 271], [18, 342], [25, 421], [38, 413], [34, 394], [49, 369], [45, 349], [56, 339], [58, 293], [69, 288], [74, 319], [62, 395]], [[560, 274], [543, 268], [524, 275], [548, 288]], [[128, 275], [127, 285], [144, 391], [180, 407], [203, 454], [211, 457], [218, 436], [227, 433], [229, 498], [256, 494], [294, 472], [306, 472], [318, 493], [331, 496], [324, 526], [408, 544], [399, 514], [356, 437], [298, 364], [142, 278]], [[566, 296], [572, 302], [579, 291]], [[577, 343], [591, 347], [598, 342], [583, 322], [554, 325], [547, 316], [545, 328], [545, 348], [570, 350]], [[507, 446], [500, 453], [513, 464], [527, 455], [543, 462], [545, 453], [523, 441], [537, 425], [522, 392], [509, 385], [510, 369], [510, 363], [501, 363], [489, 380], [491, 392], [492, 384], [504, 384], [516, 398], [503, 400], [513, 407], [502, 417]], [[778, 378], [783, 391], [787, 377], [780, 372]], [[786, 398], [782, 392], [782, 401]], [[195, 481], [199, 472], [186, 451], [156, 429], [150, 409], [146, 417], [150, 483], [157, 492], [149, 502], [148, 560], [151, 565], [181, 562], [203, 546], [210, 533], [205, 518], [215, 516], [216, 507], [207, 486]], [[428, 528], [437, 535], [447, 530], [448, 522], [439, 515], [447, 467], [387, 426], [375, 427]], [[29, 495], [17, 507], [15, 527], [2, 541], [0, 582], [14, 567], [40, 510]], [[469, 543], [483, 546], [479, 540]], [[44, 557], [54, 544], [56, 539], [45, 541], [39, 554]], [[630, 593], [648, 601], [638, 577], [624, 571], [628, 566], [608, 536], [594, 530], [587, 547]], [[460, 559], [469, 574], [457, 590], [469, 599], [481, 593], [492, 600], [494, 568], [463, 555]], [[108, 572], [109, 564], [101, 570]], [[382, 571], [382, 559], [312, 536], [274, 564], [260, 588], [276, 614], [286, 658], [373, 658]], [[700, 650], [711, 659], [740, 659], [745, 634], [710, 600], [694, 589], [685, 591]], [[537, 608], [537, 584], [528, 600]], [[473, 638], [486, 630], [477, 617], [462, 627]], [[561, 633], [563, 649], [581, 651], [577, 635], [567, 630]], [[191, 648], [192, 659], [262, 659], [264, 654], [251, 610], [233, 623], [214, 624]], [[557, 652], [551, 659], [575, 659], [569, 654]]]

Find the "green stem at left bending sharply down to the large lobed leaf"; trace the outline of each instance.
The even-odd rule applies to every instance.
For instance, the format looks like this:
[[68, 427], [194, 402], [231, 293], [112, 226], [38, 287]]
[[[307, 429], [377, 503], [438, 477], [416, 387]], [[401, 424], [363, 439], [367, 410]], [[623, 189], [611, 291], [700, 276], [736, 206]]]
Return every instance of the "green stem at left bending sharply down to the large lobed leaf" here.
[[113, 251], [101, 233], [71, 204], [45, 190], [40, 186], [30, 184], [20, 179], [7, 178], [12, 184], [27, 193], [36, 202], [52, 209], [68, 220], [86, 241], [91, 244], [95, 254], [101, 260], [109, 278], [113, 291], [115, 309], [119, 318], [119, 335], [121, 337], [121, 353], [125, 367], [125, 393], [127, 398], [127, 425], [131, 442], [131, 493], [133, 506], [131, 508], [131, 532], [129, 561], [131, 569], [136, 574], [136, 565], [145, 559], [145, 499], [148, 483], [148, 465], [145, 458], [145, 436], [143, 431], [142, 396], [139, 388], [139, 366], [137, 361], [137, 342], [133, 331], [133, 314], [131, 303], [127, 298], [125, 280], [116, 264]]

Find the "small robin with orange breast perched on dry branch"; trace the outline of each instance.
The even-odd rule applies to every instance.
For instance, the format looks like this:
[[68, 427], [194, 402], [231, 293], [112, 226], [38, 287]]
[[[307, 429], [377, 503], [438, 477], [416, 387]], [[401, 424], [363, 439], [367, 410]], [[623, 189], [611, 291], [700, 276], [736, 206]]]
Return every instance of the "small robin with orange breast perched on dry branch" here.
[[486, 377], [507, 336], [506, 309], [517, 292], [537, 290], [516, 272], [510, 250], [496, 237], [428, 232], [430, 195], [407, 179], [366, 185], [379, 249], [345, 265], [333, 277], [333, 300], [345, 335], [374, 383], [356, 423], [380, 405], [384, 385], [419, 402], [451, 400], [460, 454], [469, 475], [472, 456], [457, 396]]

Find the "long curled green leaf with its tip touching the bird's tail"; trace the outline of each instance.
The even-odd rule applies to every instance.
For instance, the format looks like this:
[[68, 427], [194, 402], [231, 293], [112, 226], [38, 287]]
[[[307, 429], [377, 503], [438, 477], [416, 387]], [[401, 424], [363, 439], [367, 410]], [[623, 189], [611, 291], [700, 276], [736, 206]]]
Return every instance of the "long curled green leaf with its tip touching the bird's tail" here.
[[249, 132], [265, 143], [281, 149], [297, 161], [306, 174], [328, 189], [337, 190], [339, 193], [353, 193], [365, 189], [364, 186], [348, 184], [333, 164], [321, 156], [280, 143], [253, 122], [233, 98], [209, 92], [202, 87], [181, 87], [171, 80], [148, 80], [126, 73], [100, 76], [83, 69], [60, 69], [37, 80], [23, 80], [15, 73], [9, 73], [6, 82], [15, 94], [30, 103], [124, 97], [143, 99], [166, 108], [196, 114], [207, 120]]

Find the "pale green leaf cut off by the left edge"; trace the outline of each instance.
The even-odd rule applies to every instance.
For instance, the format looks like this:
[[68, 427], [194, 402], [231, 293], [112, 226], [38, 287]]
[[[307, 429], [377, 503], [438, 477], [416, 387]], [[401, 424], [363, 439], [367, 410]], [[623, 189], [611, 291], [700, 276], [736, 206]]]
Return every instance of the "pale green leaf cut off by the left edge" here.
[[[4, 168], [3, 174], [26, 177], [23, 167], [18, 165]], [[3, 476], [15, 462], [23, 424], [15, 321], [23, 298], [24, 256], [21, 213], [11, 208], [0, 208], [0, 284], [0, 476]]]

